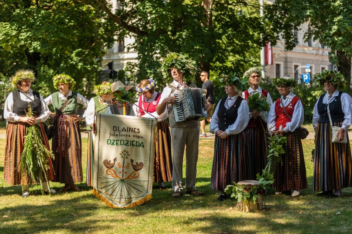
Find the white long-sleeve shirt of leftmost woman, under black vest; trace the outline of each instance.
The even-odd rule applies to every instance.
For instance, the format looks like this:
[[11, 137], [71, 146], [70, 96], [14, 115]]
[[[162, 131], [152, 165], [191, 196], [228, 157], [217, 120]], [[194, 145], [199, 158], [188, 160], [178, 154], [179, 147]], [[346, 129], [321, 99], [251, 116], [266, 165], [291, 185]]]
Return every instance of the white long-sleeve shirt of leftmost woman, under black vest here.
[[[34, 95], [33, 95], [33, 90], [29, 89], [28, 92], [25, 93], [30, 99], [34, 100]], [[31, 100], [24, 95], [24, 93], [20, 92], [20, 98], [21, 100], [25, 102], [31, 102]], [[42, 103], [42, 108], [39, 114], [40, 122], [45, 122], [49, 118], [49, 108], [48, 105], [46, 105], [43, 97], [39, 95], [40, 97], [40, 102]], [[6, 101], [5, 101], [5, 106], [4, 106], [4, 118], [9, 121], [9, 122], [18, 122], [18, 119], [20, 116], [16, 115], [13, 112], [13, 95], [12, 92], [7, 96]]]

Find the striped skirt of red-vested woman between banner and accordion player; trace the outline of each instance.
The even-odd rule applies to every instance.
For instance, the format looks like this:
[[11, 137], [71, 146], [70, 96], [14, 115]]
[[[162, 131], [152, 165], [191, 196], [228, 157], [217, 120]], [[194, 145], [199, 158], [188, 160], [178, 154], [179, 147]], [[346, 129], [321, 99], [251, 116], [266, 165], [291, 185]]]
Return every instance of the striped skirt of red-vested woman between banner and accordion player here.
[[171, 134], [166, 120], [156, 126], [153, 182], [172, 180]]

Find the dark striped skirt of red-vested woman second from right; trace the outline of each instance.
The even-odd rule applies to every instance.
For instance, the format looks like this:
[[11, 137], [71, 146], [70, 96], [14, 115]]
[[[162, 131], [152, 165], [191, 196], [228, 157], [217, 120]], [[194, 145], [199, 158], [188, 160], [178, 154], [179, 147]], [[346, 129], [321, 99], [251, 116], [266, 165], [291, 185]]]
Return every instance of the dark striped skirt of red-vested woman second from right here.
[[285, 191], [308, 188], [302, 140], [298, 130], [287, 132], [285, 136], [287, 137], [283, 145], [285, 154], [281, 155], [282, 162], [277, 165], [273, 187]]

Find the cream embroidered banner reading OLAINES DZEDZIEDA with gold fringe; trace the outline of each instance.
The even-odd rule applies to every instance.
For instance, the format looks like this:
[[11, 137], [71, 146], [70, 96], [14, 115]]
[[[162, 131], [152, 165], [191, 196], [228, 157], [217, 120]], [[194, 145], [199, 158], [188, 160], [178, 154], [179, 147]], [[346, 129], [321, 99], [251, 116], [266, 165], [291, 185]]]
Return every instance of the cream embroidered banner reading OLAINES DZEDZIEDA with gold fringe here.
[[96, 114], [93, 194], [114, 208], [151, 199], [156, 119]]

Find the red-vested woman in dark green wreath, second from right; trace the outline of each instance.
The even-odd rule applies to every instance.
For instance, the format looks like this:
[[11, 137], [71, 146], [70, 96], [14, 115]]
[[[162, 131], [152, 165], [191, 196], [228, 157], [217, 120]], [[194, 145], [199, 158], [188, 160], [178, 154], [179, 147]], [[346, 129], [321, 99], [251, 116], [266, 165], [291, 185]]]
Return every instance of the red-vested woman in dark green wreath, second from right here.
[[[268, 130], [273, 135], [286, 137], [282, 148], [282, 162], [277, 165], [274, 174], [275, 194], [282, 194], [293, 190], [291, 196], [300, 195], [300, 190], [308, 187], [306, 164], [304, 163], [303, 147], [298, 127], [304, 121], [303, 104], [291, 90], [297, 86], [295, 79], [290, 77], [274, 78], [272, 83], [277, 87], [281, 98], [271, 106], [268, 116]], [[288, 116], [289, 115], [289, 116]]]

